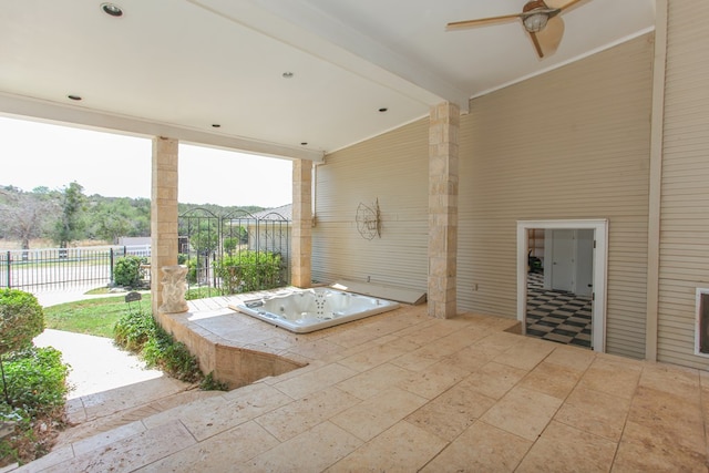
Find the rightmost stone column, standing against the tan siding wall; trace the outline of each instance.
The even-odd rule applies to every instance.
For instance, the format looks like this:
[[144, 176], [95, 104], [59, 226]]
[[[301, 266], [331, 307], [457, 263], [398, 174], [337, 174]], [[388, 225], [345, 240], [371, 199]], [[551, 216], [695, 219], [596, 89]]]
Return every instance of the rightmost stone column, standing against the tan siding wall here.
[[429, 316], [456, 315], [458, 130], [460, 109], [431, 107], [429, 123]]

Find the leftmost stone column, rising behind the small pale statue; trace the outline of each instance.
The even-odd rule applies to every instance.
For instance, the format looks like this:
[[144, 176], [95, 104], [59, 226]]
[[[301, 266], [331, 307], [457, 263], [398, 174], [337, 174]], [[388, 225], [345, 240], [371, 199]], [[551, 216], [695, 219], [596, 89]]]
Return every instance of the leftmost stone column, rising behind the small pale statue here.
[[177, 140], [153, 138], [151, 292], [153, 315], [163, 305], [161, 269], [177, 265]]

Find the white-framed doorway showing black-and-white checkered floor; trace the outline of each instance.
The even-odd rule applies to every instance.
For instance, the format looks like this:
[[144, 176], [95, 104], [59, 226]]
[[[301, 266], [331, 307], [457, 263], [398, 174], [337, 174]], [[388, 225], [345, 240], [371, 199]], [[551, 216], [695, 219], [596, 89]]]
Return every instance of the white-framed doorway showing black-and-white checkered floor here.
[[522, 332], [605, 351], [608, 223], [517, 222]]

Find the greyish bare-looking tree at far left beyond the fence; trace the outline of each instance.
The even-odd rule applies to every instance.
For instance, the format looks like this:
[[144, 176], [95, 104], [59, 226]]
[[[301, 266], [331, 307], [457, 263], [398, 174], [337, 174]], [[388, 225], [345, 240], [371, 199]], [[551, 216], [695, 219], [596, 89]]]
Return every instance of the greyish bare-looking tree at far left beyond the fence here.
[[49, 193], [25, 193], [20, 189], [0, 191], [6, 198], [0, 204], [0, 225], [4, 236], [21, 241], [22, 249], [30, 249], [30, 239], [42, 236], [48, 217], [55, 204]]

